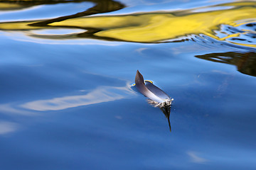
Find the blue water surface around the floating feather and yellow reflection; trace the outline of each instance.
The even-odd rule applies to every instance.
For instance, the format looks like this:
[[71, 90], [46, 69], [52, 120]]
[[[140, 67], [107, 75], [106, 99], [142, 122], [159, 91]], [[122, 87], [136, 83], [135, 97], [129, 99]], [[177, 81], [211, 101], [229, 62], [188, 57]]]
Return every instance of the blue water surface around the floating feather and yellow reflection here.
[[[119, 14], [213, 3], [121, 2], [127, 9]], [[80, 4], [92, 6], [72, 4], [65, 14], [80, 11]], [[65, 11], [70, 4], [55, 5]], [[23, 8], [0, 18], [43, 17], [30, 15]], [[0, 37], [1, 169], [256, 168], [256, 79], [247, 72], [255, 70], [253, 48], [37, 39], [22, 30], [1, 30]], [[240, 72], [233, 62], [198, 57], [227, 52], [249, 54], [252, 66]], [[172, 132], [161, 110], [131, 88], [137, 69], [174, 98]]]

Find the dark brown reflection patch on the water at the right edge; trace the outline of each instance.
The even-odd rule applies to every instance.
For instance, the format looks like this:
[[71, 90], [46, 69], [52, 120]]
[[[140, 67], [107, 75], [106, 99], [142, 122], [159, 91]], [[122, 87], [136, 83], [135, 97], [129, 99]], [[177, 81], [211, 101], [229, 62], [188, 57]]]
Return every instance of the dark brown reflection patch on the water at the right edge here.
[[239, 72], [256, 77], [255, 52], [220, 52], [206, 55], [196, 55], [195, 57], [211, 62], [233, 64], [238, 68]]

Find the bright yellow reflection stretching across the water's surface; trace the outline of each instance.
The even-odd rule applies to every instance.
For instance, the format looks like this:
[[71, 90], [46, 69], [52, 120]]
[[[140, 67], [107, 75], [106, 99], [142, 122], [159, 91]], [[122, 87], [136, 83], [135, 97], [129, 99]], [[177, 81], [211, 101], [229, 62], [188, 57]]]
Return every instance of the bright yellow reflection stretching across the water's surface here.
[[[229, 8], [227, 8], [227, 6]], [[134, 13], [126, 16], [66, 16], [56, 18], [47, 24], [43, 21], [0, 23], [1, 30], [35, 30], [80, 28], [84, 33], [75, 34], [75, 38], [95, 38], [105, 40], [122, 40], [128, 42], [162, 42], [176, 40], [186, 35], [205, 34], [216, 40], [228, 41], [228, 38], [238, 38], [241, 34], [255, 33], [252, 30], [242, 30], [220, 38], [215, 30], [225, 24], [238, 27], [250, 21], [256, 21], [256, 2], [236, 2], [212, 6], [218, 11], [193, 12], [195, 9], [159, 13]], [[209, 8], [207, 6], [206, 8]], [[89, 9], [90, 10], [90, 9]], [[238, 23], [242, 21], [243, 23]], [[34, 24], [33, 24], [34, 23]], [[36, 33], [33, 35], [36, 36]], [[48, 36], [47, 38], [50, 38]], [[59, 39], [67, 36], [58, 36]], [[71, 36], [70, 38], [74, 38]], [[228, 41], [229, 42], [229, 41]], [[256, 47], [254, 43], [232, 42], [237, 45]]]

